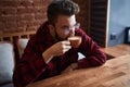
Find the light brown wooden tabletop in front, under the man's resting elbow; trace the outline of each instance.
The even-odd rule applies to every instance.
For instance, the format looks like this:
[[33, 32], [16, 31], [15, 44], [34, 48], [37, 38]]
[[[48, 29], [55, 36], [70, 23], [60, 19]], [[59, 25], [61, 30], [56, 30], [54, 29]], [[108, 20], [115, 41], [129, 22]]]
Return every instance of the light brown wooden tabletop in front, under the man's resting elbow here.
[[27, 87], [130, 87], [130, 54], [98, 67], [76, 70]]

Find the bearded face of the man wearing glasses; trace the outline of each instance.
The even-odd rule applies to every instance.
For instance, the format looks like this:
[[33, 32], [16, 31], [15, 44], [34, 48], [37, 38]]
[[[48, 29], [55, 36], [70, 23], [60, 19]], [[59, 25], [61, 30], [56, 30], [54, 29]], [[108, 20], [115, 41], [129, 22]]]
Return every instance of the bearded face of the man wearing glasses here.
[[67, 37], [75, 34], [76, 17], [75, 15], [60, 15], [55, 23], [55, 38], [57, 40], [65, 40]]

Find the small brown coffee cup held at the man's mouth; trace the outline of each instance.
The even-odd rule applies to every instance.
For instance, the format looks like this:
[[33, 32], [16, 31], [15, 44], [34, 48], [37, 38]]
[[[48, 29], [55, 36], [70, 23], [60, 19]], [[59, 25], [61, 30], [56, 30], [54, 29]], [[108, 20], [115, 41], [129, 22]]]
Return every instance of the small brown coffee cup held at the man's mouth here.
[[73, 36], [68, 37], [68, 40], [70, 41], [70, 46], [74, 48], [78, 48], [81, 44], [81, 37], [80, 36]]

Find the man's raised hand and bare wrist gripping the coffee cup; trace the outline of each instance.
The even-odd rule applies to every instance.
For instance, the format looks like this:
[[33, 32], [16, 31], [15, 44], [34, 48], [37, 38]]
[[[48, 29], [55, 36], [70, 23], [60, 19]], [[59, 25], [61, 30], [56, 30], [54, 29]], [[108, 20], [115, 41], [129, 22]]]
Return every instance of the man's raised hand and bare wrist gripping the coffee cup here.
[[43, 58], [46, 61], [51, 60], [53, 57], [62, 55], [72, 48], [68, 40], [60, 41], [51, 46], [43, 52]]

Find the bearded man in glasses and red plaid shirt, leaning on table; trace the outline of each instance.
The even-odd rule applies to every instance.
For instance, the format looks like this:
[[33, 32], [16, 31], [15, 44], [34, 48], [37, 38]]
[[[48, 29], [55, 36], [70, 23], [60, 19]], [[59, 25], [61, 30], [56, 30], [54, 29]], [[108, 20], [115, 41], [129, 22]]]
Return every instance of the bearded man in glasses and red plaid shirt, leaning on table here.
[[[70, 0], [55, 0], [48, 7], [48, 22], [30, 38], [13, 75], [15, 87], [61, 74], [72, 63], [77, 69], [102, 65], [106, 61], [101, 48], [80, 28], [76, 14], [79, 7]], [[67, 38], [82, 37], [78, 48]], [[78, 59], [78, 52], [84, 58]]]

